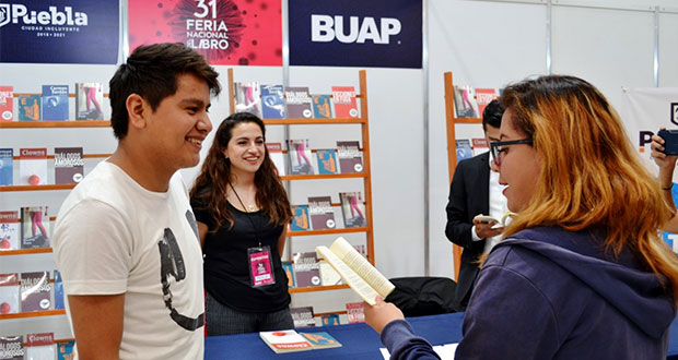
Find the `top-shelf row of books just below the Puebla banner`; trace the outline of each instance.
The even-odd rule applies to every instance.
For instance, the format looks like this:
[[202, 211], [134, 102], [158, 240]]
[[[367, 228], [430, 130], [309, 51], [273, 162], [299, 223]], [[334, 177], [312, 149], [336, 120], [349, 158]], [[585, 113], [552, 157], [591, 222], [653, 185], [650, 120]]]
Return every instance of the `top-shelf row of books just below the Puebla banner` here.
[[[104, 85], [75, 83], [74, 88], [75, 120], [103, 120]], [[14, 112], [14, 87], [0, 86], [0, 121], [69, 120], [69, 96], [68, 85], [43, 85], [42, 94], [17, 94]]]

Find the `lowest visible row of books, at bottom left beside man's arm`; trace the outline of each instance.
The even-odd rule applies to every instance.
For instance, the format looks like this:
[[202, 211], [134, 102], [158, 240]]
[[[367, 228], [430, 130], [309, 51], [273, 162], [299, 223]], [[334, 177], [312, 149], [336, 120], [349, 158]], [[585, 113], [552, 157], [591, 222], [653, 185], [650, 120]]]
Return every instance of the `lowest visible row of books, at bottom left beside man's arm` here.
[[75, 340], [55, 341], [54, 333], [0, 336], [0, 359], [72, 360]]

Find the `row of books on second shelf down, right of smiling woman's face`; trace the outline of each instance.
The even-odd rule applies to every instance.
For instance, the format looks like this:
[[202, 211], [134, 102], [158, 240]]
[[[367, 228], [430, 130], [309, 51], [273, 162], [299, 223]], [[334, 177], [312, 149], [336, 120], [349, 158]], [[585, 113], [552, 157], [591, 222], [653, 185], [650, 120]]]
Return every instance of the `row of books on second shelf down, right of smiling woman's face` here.
[[312, 160], [312, 149], [308, 146], [308, 139], [288, 140], [288, 167], [281, 143], [267, 143], [269, 156], [279, 176], [290, 175], [331, 175], [331, 173], [352, 173], [362, 172], [363, 160], [359, 142], [338, 141], [337, 149], [319, 148], [316, 149], [316, 164]]

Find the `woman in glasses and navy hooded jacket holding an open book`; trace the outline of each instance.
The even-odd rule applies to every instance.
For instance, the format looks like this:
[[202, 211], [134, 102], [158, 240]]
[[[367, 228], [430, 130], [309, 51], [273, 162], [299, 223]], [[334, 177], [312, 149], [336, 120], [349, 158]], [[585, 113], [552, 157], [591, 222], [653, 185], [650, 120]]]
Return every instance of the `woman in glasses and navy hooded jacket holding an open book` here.
[[[670, 217], [621, 121], [589, 83], [542, 76], [504, 89], [492, 143], [518, 213], [487, 257], [456, 359], [664, 359], [678, 257]], [[435, 358], [395, 305], [365, 308], [391, 359]]]

